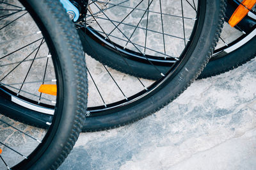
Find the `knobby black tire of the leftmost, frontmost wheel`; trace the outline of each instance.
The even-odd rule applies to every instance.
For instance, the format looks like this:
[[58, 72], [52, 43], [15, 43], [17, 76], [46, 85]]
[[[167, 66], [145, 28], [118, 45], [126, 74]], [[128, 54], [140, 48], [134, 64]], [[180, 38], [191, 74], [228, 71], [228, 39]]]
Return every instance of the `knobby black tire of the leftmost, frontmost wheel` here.
[[[58, 80], [58, 93], [55, 113], [49, 121], [51, 126], [42, 143], [12, 169], [57, 169], [72, 150], [84, 121], [87, 81], [81, 42], [59, 1], [22, 0], [20, 3], [36, 21], [47, 42]], [[33, 112], [14, 104], [8, 93], [3, 93], [1, 114], [22, 121], [34, 117]], [[31, 115], [21, 117], [22, 113]]]

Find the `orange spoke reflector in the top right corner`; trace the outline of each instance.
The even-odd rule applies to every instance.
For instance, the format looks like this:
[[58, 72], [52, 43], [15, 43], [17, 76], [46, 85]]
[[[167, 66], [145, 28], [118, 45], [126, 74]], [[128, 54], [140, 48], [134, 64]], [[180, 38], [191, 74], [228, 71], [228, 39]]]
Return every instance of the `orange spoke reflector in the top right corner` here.
[[252, 9], [255, 3], [256, 0], [244, 0], [242, 4], [239, 4], [236, 8], [236, 11], [228, 20], [228, 24], [230, 24], [231, 27], [236, 26], [236, 24], [238, 24], [247, 15], [249, 10]]

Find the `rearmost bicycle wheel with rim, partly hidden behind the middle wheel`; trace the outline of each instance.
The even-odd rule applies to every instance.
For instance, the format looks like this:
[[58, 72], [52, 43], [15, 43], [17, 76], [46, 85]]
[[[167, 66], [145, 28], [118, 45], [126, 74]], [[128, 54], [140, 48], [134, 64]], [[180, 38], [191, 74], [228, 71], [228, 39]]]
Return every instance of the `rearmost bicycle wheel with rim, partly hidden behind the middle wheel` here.
[[[107, 10], [111, 10], [111, 7], [112, 7], [111, 3], [108, 3], [108, 6], [105, 5], [104, 8]], [[234, 10], [236, 10], [237, 6], [238, 4], [234, 3], [234, 0], [228, 1], [228, 8], [227, 8], [228, 10], [226, 12], [225, 20], [228, 20], [230, 18]], [[96, 19], [102, 19], [102, 17], [97, 16], [99, 15], [99, 12], [95, 12], [94, 15], [96, 15], [95, 16]], [[239, 33], [236, 33], [236, 35], [239, 34], [240, 36], [238, 37], [234, 36], [234, 38], [230, 40], [230, 37], [225, 38], [225, 34], [222, 34], [221, 42], [225, 44], [220, 43], [220, 45], [222, 46], [214, 50], [212, 54], [212, 58], [210, 59], [207, 66], [204, 68], [204, 71], [198, 78], [202, 79], [206, 77], [211, 77], [212, 75], [218, 75], [220, 73], [227, 72], [228, 70], [232, 70], [237, 66], [242, 65], [246, 61], [249, 61], [250, 59], [254, 58], [256, 54], [256, 48], [255, 48], [256, 43], [255, 43], [255, 38], [253, 37], [255, 37], [256, 30], [255, 30], [255, 27], [253, 26], [255, 26], [255, 23], [256, 23], [255, 15], [253, 12], [250, 12], [249, 15], [246, 18], [244, 18], [238, 26], [236, 26], [236, 28], [239, 30]], [[116, 22], [116, 24], [118, 24], [118, 22]], [[122, 24], [126, 24], [126, 23], [122, 23]], [[129, 24], [126, 24], [126, 25], [129, 25]], [[230, 28], [228, 27], [227, 29], [229, 31], [232, 31], [231, 27]], [[97, 35], [97, 31], [94, 31], [90, 27], [88, 28], [87, 33], [88, 33], [88, 36], [90, 37], [90, 39], [87, 38], [88, 42], [92, 43], [93, 47], [95, 43], [108, 44], [104, 36], [99, 36], [99, 34]], [[228, 33], [228, 31], [225, 33]], [[119, 36], [113, 35], [113, 36], [116, 36], [114, 38], [122, 39], [123, 41], [125, 39], [123, 35], [119, 35]], [[161, 37], [158, 37], [158, 38], [161, 39]], [[83, 42], [83, 44], [85, 46], [88, 45], [85, 41]], [[237, 44], [240, 44], [240, 45], [237, 45]], [[125, 47], [125, 45], [123, 46]], [[124, 64], [124, 61], [122, 60], [122, 58], [120, 59], [119, 54], [116, 53], [115, 50], [111, 50], [109, 47], [106, 47], [106, 45], [105, 46], [102, 45], [101, 47], [100, 45], [98, 46], [95, 45], [95, 47], [97, 47], [97, 49], [100, 49], [101, 51], [99, 52], [100, 54], [95, 55], [95, 53], [92, 52], [92, 49], [85, 49], [85, 50], [90, 56], [97, 59], [101, 63], [104, 63], [105, 65], [108, 65], [111, 68], [114, 68], [115, 70], [128, 73], [130, 75], [138, 76], [138, 77], [143, 77], [145, 79], [157, 80], [159, 79], [159, 77], [161, 77], [161, 75], [159, 75], [159, 73], [156, 72], [154, 66], [150, 65], [150, 63], [147, 62], [147, 58], [143, 56], [136, 56], [134, 54], [127, 55], [125, 53], [124, 56], [125, 58], [127, 58], [127, 62], [131, 65], [130, 68], [128, 68], [127, 65]], [[124, 47], [120, 47], [120, 49], [123, 49]], [[151, 49], [151, 50], [153, 50], [152, 52], [154, 52], [154, 49]], [[164, 54], [164, 52], [162, 52], [162, 54], [163, 56], [166, 55]], [[243, 57], [241, 57], [241, 54], [243, 54]], [[109, 57], [106, 57], [106, 56], [109, 56]], [[167, 70], [169, 70], [168, 65], [171, 62], [170, 60], [166, 58], [149, 58], [149, 57], [148, 59], [152, 59], [152, 62], [155, 61], [156, 63], [154, 63], [154, 65], [157, 66], [157, 68], [161, 70], [161, 72], [166, 72]], [[147, 72], [145, 72], [145, 70], [147, 70]]]

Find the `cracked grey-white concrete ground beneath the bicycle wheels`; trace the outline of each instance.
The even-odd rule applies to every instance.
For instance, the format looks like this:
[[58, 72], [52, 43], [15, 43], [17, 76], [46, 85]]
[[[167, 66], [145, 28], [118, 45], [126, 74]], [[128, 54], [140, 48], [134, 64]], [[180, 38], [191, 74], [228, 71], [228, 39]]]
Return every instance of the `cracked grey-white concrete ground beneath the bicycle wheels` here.
[[[239, 36], [228, 29], [223, 31], [225, 40], [230, 35]], [[110, 84], [102, 65], [90, 57], [86, 59], [99, 76], [99, 86]], [[81, 134], [60, 169], [256, 169], [255, 66], [253, 60], [231, 72], [196, 81], [161, 111], [131, 125]], [[134, 77], [109, 70], [124, 85], [136, 83]], [[89, 86], [93, 88], [90, 79]], [[113, 102], [114, 88], [104, 91], [106, 102]], [[132, 95], [141, 89], [124, 90]], [[96, 89], [90, 89], [89, 105], [101, 104], [100, 98], [94, 98], [96, 95]], [[115, 97], [123, 98], [122, 94]], [[15, 133], [0, 126], [1, 130], [9, 130], [4, 134]], [[33, 127], [24, 128], [40, 134], [33, 132]], [[12, 142], [22, 140], [25, 138]]]

